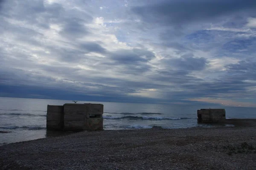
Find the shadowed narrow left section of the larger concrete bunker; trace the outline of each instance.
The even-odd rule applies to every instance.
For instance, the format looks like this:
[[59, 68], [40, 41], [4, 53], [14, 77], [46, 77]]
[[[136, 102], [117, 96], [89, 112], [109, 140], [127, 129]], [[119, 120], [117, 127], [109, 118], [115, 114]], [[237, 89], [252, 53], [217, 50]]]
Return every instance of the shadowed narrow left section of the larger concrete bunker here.
[[47, 105], [47, 130], [63, 130], [63, 106]]

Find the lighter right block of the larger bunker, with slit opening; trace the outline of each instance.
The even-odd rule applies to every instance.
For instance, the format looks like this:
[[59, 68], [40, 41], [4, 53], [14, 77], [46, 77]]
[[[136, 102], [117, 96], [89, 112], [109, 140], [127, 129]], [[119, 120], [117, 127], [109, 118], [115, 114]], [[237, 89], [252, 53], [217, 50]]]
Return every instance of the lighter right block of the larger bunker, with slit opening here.
[[102, 104], [64, 104], [64, 130], [103, 130]]

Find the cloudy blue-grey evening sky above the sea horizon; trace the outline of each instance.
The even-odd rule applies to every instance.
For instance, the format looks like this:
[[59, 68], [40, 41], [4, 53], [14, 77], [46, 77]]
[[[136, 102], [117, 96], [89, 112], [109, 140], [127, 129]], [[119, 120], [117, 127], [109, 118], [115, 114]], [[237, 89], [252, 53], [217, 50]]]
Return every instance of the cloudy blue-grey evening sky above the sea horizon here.
[[256, 107], [255, 0], [0, 0], [0, 96]]

